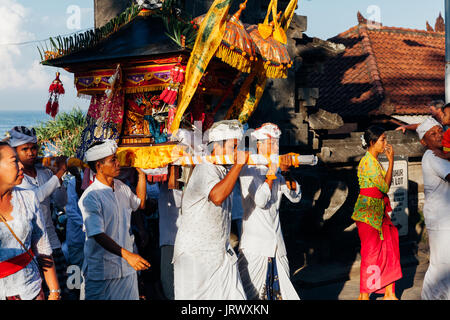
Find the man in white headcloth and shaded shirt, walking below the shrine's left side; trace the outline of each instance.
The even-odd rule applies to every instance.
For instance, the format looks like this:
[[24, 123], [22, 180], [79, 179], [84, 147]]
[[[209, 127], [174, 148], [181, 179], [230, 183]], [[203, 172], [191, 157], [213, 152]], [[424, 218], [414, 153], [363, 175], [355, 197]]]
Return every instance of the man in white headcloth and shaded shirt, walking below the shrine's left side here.
[[84, 283], [86, 300], [139, 300], [136, 271], [150, 267], [133, 253], [131, 213], [145, 208], [146, 176], [138, 170], [137, 196], [115, 179], [120, 175], [117, 144], [113, 140], [94, 143], [86, 151], [86, 161], [96, 173], [78, 205], [86, 231]]

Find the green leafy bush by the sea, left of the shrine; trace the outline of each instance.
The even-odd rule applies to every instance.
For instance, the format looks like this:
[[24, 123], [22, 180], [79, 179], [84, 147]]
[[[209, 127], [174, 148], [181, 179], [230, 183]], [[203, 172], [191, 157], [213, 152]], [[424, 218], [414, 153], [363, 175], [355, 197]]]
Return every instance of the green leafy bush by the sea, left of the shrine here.
[[35, 129], [41, 144], [41, 155], [50, 153], [75, 157], [86, 125], [86, 115], [78, 107], [58, 114], [54, 120], [40, 122]]

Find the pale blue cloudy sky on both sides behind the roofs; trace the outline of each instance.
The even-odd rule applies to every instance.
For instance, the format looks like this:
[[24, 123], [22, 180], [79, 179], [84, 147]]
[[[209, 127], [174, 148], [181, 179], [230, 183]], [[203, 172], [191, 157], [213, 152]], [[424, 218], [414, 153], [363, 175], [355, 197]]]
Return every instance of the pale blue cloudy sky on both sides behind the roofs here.
[[[40, 65], [37, 43], [18, 43], [93, 27], [93, 3], [0, 0], [0, 110], [44, 112], [56, 71], [61, 72], [66, 88], [61, 110], [87, 109], [89, 102], [76, 97], [72, 74]], [[358, 11], [386, 26], [425, 29], [427, 20], [434, 26], [439, 12], [444, 14], [444, 0], [301, 0], [297, 13], [308, 17], [309, 36], [328, 39], [356, 25]]]

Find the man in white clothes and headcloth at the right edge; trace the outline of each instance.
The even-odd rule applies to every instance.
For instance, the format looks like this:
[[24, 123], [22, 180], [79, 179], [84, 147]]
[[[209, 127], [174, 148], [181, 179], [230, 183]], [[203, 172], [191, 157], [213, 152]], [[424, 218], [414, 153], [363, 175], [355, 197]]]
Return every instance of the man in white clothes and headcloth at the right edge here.
[[423, 280], [422, 299], [450, 300], [450, 161], [431, 151], [442, 149], [440, 123], [427, 119], [417, 128], [417, 133], [427, 147], [422, 158], [423, 214], [430, 245], [430, 265]]

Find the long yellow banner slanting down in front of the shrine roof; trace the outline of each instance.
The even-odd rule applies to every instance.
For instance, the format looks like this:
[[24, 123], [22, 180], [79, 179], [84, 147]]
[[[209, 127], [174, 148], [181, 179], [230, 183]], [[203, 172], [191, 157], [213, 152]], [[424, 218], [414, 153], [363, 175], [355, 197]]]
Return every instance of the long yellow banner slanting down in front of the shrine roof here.
[[186, 80], [171, 131], [176, 132], [211, 58], [222, 42], [232, 0], [215, 0], [203, 20], [186, 67]]

